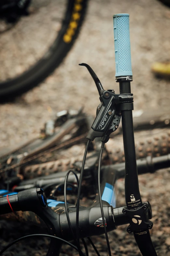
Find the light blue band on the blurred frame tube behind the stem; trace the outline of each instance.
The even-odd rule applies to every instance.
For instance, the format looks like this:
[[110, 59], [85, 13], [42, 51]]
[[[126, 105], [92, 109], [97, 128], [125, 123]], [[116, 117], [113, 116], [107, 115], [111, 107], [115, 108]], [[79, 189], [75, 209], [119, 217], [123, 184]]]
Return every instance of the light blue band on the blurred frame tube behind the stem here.
[[103, 191], [102, 200], [106, 201], [113, 207], [116, 207], [116, 196], [114, 192], [114, 187], [107, 182]]

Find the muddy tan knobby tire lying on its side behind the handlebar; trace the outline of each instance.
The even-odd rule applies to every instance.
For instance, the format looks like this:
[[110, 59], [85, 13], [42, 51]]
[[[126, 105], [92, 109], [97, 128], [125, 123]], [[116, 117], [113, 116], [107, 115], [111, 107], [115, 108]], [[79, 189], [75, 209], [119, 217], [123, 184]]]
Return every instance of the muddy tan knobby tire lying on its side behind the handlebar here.
[[[153, 130], [154, 131], [154, 130]], [[146, 158], [148, 156], [158, 157], [170, 154], [170, 129], [160, 130], [159, 132], [149, 131], [149, 134], [142, 135], [143, 132], [135, 133], [135, 150], [136, 159]], [[111, 145], [115, 145], [114, 147]], [[123, 140], [119, 136], [118, 139], [110, 138], [110, 142], [106, 143], [107, 152], [103, 157], [109, 157], [110, 163], [117, 164], [125, 162]], [[33, 179], [38, 176], [52, 174], [55, 172], [67, 171], [73, 166], [79, 167], [82, 161], [82, 155], [70, 159], [55, 160], [51, 162], [26, 164], [21, 167], [21, 174], [26, 179]], [[80, 168], [80, 167], [79, 167]]]

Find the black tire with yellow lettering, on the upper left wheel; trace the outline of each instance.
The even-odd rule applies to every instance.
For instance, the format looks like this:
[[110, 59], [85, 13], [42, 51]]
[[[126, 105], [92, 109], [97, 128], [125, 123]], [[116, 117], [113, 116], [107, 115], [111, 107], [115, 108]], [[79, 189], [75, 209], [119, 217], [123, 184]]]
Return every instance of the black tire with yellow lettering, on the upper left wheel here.
[[[88, 0], [81, 2], [68, 0], [62, 27], [55, 41], [44, 56], [29, 70], [18, 77], [0, 82], [0, 100], [6, 100], [27, 92], [42, 82], [60, 65], [78, 37], [86, 15], [87, 2]], [[79, 10], [77, 10], [78, 7], [76, 9], [76, 5], [79, 5]], [[77, 20], [74, 18], [75, 13], [79, 14]], [[75, 28], [71, 27], [71, 22], [75, 22]]]

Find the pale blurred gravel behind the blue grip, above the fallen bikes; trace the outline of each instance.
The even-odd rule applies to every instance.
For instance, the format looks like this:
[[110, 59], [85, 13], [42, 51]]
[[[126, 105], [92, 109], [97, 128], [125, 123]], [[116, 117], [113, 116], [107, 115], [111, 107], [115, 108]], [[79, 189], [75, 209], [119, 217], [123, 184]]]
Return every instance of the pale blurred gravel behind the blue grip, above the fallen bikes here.
[[155, 79], [150, 66], [170, 56], [170, 9], [156, 0], [93, 0], [81, 34], [63, 64], [40, 86], [0, 106], [1, 148], [35, 137], [56, 111], [84, 105], [87, 113], [95, 114], [99, 96], [87, 69], [78, 63], [87, 62], [104, 88], [118, 92], [112, 15], [121, 12], [130, 14], [135, 110], [169, 107], [169, 82]]

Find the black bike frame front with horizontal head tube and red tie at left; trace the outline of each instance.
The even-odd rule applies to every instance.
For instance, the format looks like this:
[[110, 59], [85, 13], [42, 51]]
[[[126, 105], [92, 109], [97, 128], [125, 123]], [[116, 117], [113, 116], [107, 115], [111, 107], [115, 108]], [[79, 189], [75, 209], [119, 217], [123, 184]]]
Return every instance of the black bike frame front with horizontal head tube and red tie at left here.
[[[149, 205], [149, 203], [147, 203]], [[150, 210], [150, 207], [148, 207]], [[58, 214], [47, 205], [46, 196], [40, 188], [30, 188], [18, 194], [0, 198], [0, 214], [12, 211], [31, 211], [36, 213], [47, 225], [50, 235], [66, 241], [73, 240], [65, 213]], [[115, 230], [117, 226], [128, 224], [129, 219], [122, 213], [123, 207], [113, 208], [103, 201], [105, 225], [107, 232]], [[151, 213], [149, 213], [151, 218]], [[76, 231], [76, 206], [69, 206], [69, 218], [73, 231]], [[104, 234], [100, 206], [81, 207], [79, 210], [79, 237], [85, 238]], [[61, 242], [51, 239], [48, 256], [59, 255]]]

